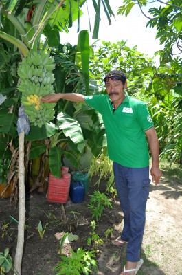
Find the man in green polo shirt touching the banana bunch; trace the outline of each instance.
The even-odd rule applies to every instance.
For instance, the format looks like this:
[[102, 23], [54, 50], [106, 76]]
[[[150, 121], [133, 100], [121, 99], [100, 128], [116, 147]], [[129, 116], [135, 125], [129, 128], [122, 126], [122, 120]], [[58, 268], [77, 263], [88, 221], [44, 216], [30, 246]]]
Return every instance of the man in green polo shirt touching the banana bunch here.
[[122, 234], [113, 244], [128, 243], [127, 261], [121, 275], [134, 275], [144, 262], [140, 259], [140, 250], [150, 185], [148, 144], [152, 155], [150, 174], [157, 185], [162, 175], [159, 142], [146, 104], [124, 91], [127, 87], [125, 74], [113, 70], [106, 75], [104, 82], [107, 95], [54, 94], [41, 98], [41, 102], [60, 99], [86, 102], [102, 114], [117, 194], [124, 212]]

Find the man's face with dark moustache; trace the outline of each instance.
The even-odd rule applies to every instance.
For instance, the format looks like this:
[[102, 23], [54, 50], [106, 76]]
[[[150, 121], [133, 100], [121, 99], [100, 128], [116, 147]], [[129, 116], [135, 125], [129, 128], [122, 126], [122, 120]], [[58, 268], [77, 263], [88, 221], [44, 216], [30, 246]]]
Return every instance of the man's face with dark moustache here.
[[121, 103], [124, 97], [124, 89], [127, 87], [127, 82], [125, 84], [122, 83], [121, 80], [111, 80], [109, 78], [106, 81], [106, 92], [109, 94], [109, 98], [111, 101]]

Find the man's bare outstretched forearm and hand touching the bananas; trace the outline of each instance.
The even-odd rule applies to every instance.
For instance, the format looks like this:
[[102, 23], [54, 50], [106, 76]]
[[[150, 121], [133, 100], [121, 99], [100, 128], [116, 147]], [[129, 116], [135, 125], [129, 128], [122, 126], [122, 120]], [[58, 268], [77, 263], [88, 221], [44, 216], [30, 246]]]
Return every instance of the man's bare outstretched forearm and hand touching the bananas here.
[[43, 103], [55, 103], [60, 99], [65, 99], [73, 102], [84, 102], [84, 96], [82, 94], [75, 93], [59, 93], [59, 94], [50, 94], [48, 96], [44, 96], [41, 98], [41, 102]]

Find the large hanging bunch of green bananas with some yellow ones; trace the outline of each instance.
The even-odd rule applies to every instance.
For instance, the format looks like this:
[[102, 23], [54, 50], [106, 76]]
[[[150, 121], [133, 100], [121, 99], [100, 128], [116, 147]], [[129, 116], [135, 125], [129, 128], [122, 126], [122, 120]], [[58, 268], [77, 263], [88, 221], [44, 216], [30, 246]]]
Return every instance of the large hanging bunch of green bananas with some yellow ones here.
[[21, 104], [25, 106], [29, 120], [35, 126], [42, 127], [54, 119], [55, 103], [41, 103], [40, 98], [54, 94], [54, 58], [45, 52], [30, 52], [19, 64], [18, 75], [22, 92]]

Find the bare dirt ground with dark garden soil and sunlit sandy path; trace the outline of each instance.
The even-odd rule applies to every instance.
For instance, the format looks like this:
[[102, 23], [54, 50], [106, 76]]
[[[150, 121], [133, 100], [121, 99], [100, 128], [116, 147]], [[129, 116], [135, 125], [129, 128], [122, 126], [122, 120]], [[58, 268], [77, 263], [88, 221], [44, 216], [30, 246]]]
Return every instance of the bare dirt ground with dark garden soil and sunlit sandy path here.
[[[144, 265], [138, 275], [182, 275], [182, 180], [165, 176], [159, 186], [151, 185], [146, 210], [146, 230], [141, 248]], [[105, 183], [89, 184], [89, 194], [82, 203], [65, 204], [67, 222], [62, 221], [60, 204], [48, 203], [45, 193], [37, 191], [26, 198], [25, 245], [22, 275], [54, 275], [54, 267], [60, 261], [60, 241], [56, 239], [61, 232], [73, 231], [78, 241], [65, 245], [62, 252], [69, 255], [70, 248], [89, 249], [87, 239], [91, 232], [91, 210], [87, 207], [94, 190], [104, 192]], [[120, 235], [123, 214], [117, 197], [111, 198], [113, 209], [106, 209], [97, 221], [96, 233], [104, 241], [97, 254], [99, 275], [119, 275], [126, 261], [126, 245], [115, 247], [111, 240]], [[78, 214], [73, 214], [73, 211]], [[10, 221], [10, 215], [18, 219], [18, 209], [13, 210], [10, 199], [0, 199], [0, 252], [10, 249], [12, 259], [16, 251], [17, 225]], [[47, 225], [43, 239], [38, 234], [38, 222]], [[113, 235], [106, 239], [104, 232], [113, 228]], [[9, 274], [12, 274], [9, 272]], [[92, 273], [95, 275], [95, 272]]]

